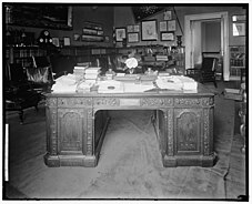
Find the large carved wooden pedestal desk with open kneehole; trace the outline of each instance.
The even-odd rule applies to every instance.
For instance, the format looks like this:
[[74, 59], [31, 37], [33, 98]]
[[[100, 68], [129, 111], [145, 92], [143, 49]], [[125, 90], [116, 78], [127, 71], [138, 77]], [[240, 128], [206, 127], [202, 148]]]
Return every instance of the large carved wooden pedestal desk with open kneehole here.
[[48, 94], [46, 164], [95, 166], [108, 110], [153, 110], [164, 166], [213, 166], [214, 95], [202, 85], [195, 93]]

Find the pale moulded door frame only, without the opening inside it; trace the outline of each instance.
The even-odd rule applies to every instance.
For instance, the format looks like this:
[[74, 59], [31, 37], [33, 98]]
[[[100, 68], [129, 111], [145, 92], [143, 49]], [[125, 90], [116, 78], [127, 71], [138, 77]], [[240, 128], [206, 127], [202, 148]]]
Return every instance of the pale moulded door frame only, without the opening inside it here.
[[[185, 44], [185, 69], [193, 65], [193, 31], [191, 29], [192, 21], [221, 19], [221, 55], [223, 58], [223, 80], [230, 80], [230, 61], [229, 61], [229, 13], [213, 12], [201, 14], [184, 16], [184, 44]], [[226, 40], [228, 39], [228, 40]]]

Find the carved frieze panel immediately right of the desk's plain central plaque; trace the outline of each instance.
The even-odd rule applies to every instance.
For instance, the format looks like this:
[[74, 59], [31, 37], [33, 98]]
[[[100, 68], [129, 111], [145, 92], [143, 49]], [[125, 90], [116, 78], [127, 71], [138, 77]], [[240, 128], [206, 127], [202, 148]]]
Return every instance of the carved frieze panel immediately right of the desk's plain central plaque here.
[[171, 106], [173, 99], [170, 98], [143, 98], [141, 99], [141, 106]]

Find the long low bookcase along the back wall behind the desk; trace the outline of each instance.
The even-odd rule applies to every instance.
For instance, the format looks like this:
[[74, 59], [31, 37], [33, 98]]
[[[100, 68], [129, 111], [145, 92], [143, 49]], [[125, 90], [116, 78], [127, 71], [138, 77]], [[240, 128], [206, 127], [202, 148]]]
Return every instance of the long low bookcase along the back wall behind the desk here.
[[104, 59], [108, 57], [128, 55], [130, 53], [141, 55], [141, 64], [147, 67], [169, 67], [177, 65], [184, 68], [184, 47], [165, 48], [162, 45], [152, 47], [125, 47], [125, 48], [83, 48], [64, 47], [61, 55], [74, 57], [78, 62], [93, 61], [93, 59]]

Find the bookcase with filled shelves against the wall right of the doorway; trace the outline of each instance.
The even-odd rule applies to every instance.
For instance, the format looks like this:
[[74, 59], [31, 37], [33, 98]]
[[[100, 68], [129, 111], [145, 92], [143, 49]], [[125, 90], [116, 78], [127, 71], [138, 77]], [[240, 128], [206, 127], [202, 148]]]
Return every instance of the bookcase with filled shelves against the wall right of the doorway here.
[[241, 72], [245, 70], [245, 47], [230, 47], [230, 80], [240, 80]]

